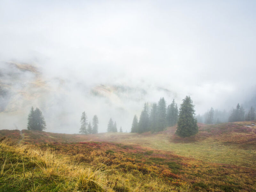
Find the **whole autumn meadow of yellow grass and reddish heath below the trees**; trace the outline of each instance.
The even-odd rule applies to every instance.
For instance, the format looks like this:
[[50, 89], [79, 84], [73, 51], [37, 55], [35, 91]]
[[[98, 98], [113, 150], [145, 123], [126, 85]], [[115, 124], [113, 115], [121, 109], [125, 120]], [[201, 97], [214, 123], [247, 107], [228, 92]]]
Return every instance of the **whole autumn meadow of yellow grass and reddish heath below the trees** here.
[[176, 127], [87, 136], [0, 130], [0, 191], [256, 191], [252, 123], [199, 124], [189, 138]]

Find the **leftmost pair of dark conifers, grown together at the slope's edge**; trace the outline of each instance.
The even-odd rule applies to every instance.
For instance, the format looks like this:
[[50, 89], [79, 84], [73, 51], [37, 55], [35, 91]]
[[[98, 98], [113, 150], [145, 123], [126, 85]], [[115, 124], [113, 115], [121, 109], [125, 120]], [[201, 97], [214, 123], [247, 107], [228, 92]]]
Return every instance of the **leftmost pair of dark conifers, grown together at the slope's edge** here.
[[28, 114], [28, 130], [38, 130], [43, 131], [46, 129], [46, 124], [44, 121], [44, 116], [42, 111], [39, 108], [36, 108], [34, 110], [33, 107], [31, 107], [31, 110]]

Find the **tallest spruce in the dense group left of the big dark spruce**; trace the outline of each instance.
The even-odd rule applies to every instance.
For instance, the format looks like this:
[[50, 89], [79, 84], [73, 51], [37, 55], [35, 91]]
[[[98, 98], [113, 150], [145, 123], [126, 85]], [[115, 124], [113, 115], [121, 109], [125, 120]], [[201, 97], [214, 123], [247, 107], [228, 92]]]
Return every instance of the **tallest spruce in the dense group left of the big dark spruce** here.
[[166, 102], [160, 98], [157, 105], [157, 131], [163, 131], [166, 128]]

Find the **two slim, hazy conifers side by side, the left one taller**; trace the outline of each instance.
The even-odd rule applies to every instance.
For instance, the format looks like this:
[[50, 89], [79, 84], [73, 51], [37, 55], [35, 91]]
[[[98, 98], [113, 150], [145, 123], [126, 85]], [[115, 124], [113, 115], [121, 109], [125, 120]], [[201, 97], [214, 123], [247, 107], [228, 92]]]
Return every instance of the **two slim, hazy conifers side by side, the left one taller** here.
[[91, 122], [87, 122], [87, 115], [85, 113], [85, 111], [82, 113], [81, 116], [81, 127], [80, 127], [80, 131], [79, 133], [81, 134], [95, 134], [98, 133], [98, 124], [99, 124], [99, 119], [97, 115], [94, 115], [92, 118], [92, 125]]

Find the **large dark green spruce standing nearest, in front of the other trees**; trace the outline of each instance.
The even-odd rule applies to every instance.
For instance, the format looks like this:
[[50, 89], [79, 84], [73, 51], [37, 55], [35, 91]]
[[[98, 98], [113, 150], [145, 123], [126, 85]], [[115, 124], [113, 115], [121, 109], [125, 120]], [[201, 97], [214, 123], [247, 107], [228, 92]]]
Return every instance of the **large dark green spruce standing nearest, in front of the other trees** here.
[[194, 105], [190, 96], [186, 96], [180, 105], [180, 114], [176, 134], [180, 137], [189, 137], [198, 132], [197, 120], [194, 119]]

